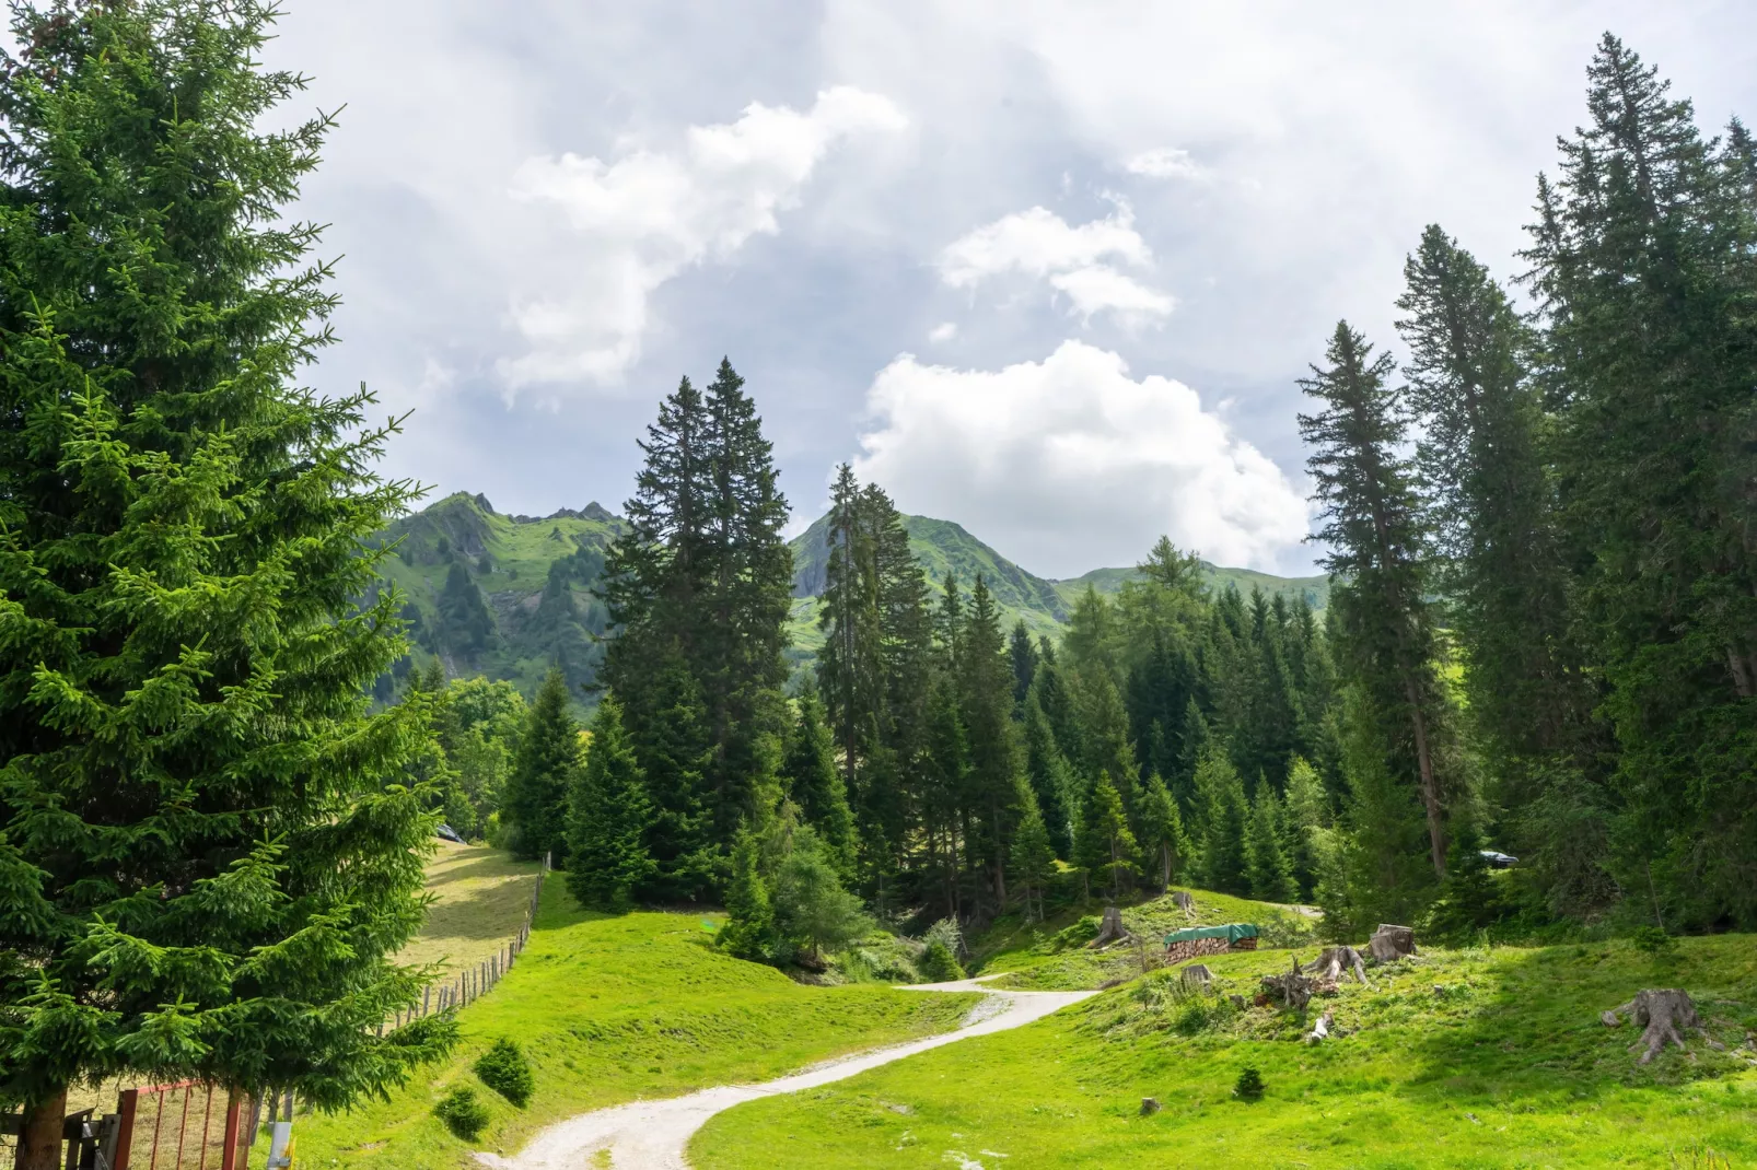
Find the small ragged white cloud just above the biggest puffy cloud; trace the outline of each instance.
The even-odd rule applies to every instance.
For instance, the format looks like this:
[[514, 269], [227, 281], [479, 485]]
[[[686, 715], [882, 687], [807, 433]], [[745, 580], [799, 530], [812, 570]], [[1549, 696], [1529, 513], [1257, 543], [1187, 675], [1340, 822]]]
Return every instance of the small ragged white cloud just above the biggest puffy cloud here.
[[1140, 325], [1170, 314], [1175, 300], [1128, 276], [1119, 264], [1135, 269], [1153, 264], [1153, 249], [1135, 230], [1128, 204], [1117, 202], [1103, 220], [1079, 227], [1047, 207], [1031, 207], [947, 244], [940, 253], [940, 279], [952, 288], [1005, 276], [1044, 279], [1086, 321], [1112, 313], [1124, 325]]

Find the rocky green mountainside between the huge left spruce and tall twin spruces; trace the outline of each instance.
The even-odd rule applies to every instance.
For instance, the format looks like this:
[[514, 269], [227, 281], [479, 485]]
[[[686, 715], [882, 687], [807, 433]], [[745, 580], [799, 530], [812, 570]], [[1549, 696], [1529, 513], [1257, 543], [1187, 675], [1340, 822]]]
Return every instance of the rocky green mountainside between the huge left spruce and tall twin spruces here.
[[[590, 583], [622, 520], [597, 504], [506, 516], [457, 492], [394, 524], [383, 576], [402, 590], [416, 652], [399, 675], [437, 657], [446, 675], [506, 678], [529, 697], [550, 664], [575, 687], [603, 655], [604, 608]], [[381, 680], [388, 697], [395, 680]]]

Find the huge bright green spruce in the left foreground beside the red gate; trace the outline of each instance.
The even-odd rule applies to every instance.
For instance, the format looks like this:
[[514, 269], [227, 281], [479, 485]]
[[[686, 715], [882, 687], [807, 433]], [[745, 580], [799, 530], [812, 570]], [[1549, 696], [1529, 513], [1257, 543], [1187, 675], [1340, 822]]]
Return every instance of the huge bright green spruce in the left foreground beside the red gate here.
[[425, 699], [367, 536], [413, 499], [281, 213], [330, 123], [258, 65], [272, 5], [12, 7], [0, 63], [0, 1094], [60, 1166], [67, 1087], [322, 1109], [455, 1035], [418, 991]]

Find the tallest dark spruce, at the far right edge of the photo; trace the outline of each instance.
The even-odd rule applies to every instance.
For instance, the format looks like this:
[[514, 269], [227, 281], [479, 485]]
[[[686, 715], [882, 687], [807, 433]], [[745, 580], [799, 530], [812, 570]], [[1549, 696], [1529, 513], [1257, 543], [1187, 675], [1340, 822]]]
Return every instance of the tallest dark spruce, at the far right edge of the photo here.
[[1551, 460], [1602, 710], [1611, 864], [1669, 924], [1757, 924], [1757, 209], [1750, 135], [1611, 35], [1539, 183]]

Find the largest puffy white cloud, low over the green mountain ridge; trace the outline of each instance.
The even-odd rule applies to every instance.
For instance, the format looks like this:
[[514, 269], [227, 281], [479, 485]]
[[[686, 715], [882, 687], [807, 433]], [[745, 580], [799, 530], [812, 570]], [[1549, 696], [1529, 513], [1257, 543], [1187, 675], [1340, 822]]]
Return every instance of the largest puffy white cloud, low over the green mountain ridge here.
[[1281, 469], [1195, 390], [1081, 341], [998, 371], [901, 355], [866, 394], [854, 460], [910, 513], [956, 518], [1033, 573], [1133, 564], [1160, 534], [1276, 569], [1307, 532]]

